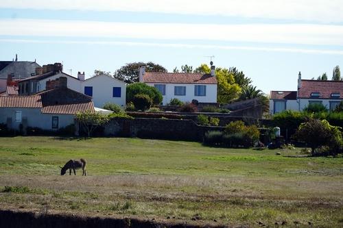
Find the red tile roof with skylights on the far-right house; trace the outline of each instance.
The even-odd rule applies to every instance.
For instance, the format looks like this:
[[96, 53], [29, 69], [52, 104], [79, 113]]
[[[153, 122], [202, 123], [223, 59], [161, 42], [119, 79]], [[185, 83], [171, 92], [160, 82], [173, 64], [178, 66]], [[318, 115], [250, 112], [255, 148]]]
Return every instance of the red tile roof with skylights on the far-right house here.
[[311, 98], [312, 92], [320, 92], [320, 99], [333, 99], [332, 93], [340, 93], [336, 99], [343, 99], [343, 81], [301, 80], [298, 97]]

